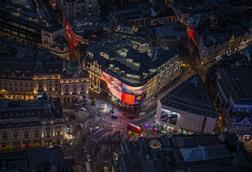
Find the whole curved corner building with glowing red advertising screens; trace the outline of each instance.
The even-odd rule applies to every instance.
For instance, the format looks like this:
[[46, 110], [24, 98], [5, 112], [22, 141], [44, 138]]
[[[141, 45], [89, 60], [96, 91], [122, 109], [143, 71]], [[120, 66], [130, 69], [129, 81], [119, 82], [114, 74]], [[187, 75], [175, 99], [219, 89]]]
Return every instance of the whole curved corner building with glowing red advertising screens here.
[[129, 109], [141, 108], [181, 74], [178, 51], [103, 41], [87, 51], [90, 88]]

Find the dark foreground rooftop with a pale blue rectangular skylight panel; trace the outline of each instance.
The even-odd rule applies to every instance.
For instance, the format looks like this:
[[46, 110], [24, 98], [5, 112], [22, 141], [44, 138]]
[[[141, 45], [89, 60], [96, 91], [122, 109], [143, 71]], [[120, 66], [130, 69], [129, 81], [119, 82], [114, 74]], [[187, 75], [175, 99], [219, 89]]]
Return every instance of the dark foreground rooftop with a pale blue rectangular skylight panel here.
[[252, 159], [235, 135], [163, 135], [125, 141], [121, 148], [119, 172], [252, 170]]

